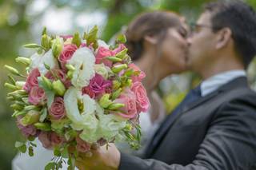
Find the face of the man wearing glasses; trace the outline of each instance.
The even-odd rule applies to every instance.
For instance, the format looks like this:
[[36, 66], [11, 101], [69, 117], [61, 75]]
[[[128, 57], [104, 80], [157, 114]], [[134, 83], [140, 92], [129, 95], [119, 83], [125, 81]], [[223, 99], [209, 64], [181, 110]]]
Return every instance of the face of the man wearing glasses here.
[[212, 31], [211, 13], [203, 13], [192, 27], [192, 34], [188, 38], [189, 54], [187, 67], [201, 73], [210, 64], [215, 52], [215, 34]]

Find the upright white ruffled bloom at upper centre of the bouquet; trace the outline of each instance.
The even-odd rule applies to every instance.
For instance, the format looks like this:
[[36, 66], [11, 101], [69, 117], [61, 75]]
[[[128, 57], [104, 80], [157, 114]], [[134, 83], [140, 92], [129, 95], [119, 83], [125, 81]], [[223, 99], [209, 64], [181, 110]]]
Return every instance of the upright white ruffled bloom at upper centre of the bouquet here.
[[95, 75], [94, 63], [94, 53], [89, 48], [83, 47], [74, 52], [68, 64], [75, 68], [71, 82], [76, 88], [89, 85], [90, 79]]

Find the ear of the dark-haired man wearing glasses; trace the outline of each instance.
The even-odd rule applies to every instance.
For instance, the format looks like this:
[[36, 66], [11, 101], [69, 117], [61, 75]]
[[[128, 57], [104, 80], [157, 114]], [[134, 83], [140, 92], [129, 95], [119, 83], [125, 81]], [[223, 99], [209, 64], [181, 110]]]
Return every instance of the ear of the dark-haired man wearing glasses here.
[[218, 31], [216, 49], [222, 49], [232, 39], [232, 31], [230, 28], [223, 28]]

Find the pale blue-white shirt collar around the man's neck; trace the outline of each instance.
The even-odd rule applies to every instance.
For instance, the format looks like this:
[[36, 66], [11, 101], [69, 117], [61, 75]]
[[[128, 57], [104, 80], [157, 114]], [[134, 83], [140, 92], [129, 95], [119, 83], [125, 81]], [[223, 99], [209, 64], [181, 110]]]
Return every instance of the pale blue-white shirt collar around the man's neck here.
[[214, 90], [218, 89], [220, 86], [225, 85], [237, 77], [246, 77], [246, 71], [243, 69], [235, 69], [218, 73], [207, 78], [205, 81], [202, 81], [202, 84], [200, 85], [202, 97], [214, 92]]

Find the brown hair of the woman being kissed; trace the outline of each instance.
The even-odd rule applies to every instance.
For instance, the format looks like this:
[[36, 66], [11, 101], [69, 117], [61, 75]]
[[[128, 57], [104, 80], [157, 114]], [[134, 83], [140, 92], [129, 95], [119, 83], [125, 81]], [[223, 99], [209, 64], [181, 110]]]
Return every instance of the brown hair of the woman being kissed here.
[[146, 35], [159, 35], [158, 41], [166, 35], [170, 27], [180, 27], [180, 16], [169, 11], [154, 11], [138, 15], [130, 22], [126, 30], [126, 47], [133, 61], [138, 60], [143, 52], [143, 38]]

